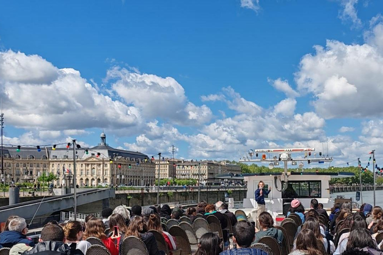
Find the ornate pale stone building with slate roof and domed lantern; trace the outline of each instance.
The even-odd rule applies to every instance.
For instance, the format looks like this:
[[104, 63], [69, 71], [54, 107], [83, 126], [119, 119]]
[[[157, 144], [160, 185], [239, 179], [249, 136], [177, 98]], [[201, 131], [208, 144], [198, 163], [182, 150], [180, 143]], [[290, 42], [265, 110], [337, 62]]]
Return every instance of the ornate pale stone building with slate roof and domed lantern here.
[[[115, 149], [106, 143], [76, 150], [76, 182], [79, 186], [97, 186], [103, 183], [142, 185], [155, 181], [155, 163], [146, 154]], [[73, 185], [73, 148], [14, 147], [3, 149], [4, 174], [2, 182], [34, 182], [42, 173], [57, 176], [55, 185]]]

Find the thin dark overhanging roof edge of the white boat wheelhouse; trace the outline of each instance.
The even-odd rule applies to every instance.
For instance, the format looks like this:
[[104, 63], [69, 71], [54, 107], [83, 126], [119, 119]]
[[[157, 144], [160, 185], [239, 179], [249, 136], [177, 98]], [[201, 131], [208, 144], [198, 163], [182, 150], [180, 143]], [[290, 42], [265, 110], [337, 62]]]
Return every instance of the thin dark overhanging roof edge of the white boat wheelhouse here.
[[[218, 179], [238, 179], [242, 180], [244, 177], [250, 177], [250, 176], [278, 176], [282, 175], [283, 172], [277, 172], [277, 173], [241, 173], [241, 174], [218, 174], [215, 176], [215, 178]], [[332, 173], [332, 172], [289, 172], [290, 175], [312, 175], [312, 176], [318, 176], [318, 175], [330, 175], [331, 178], [347, 178], [347, 177], [354, 177], [354, 173], [349, 172], [338, 172], [338, 173]]]

